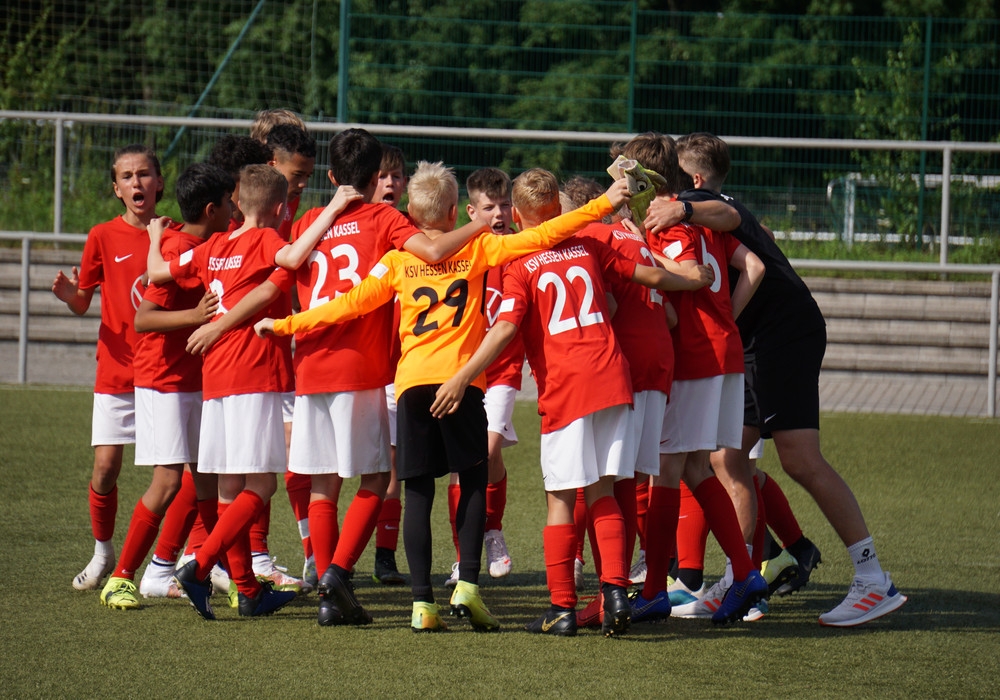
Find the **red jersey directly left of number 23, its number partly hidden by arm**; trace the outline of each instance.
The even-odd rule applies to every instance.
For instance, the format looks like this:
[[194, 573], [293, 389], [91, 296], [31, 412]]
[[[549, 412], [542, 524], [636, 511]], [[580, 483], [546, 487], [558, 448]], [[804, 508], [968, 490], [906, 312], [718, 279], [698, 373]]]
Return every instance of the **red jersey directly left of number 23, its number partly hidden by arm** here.
[[[200, 284], [218, 294], [221, 315], [271, 277], [274, 256], [286, 245], [270, 228], [247, 229], [236, 238], [217, 233], [171, 261], [170, 274], [181, 287]], [[223, 334], [205, 355], [202, 394], [206, 400], [292, 390], [290, 345], [258, 338], [253, 332], [253, 324], [268, 313], [260, 311]]]

